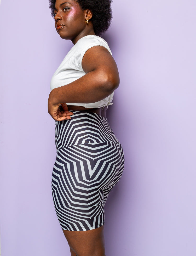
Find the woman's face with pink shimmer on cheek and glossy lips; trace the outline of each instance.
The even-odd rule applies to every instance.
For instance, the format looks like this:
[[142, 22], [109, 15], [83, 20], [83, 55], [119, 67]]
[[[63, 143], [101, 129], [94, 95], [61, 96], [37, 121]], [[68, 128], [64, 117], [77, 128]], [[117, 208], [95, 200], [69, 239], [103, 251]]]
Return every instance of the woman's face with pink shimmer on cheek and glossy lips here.
[[[67, 1], [67, 2], [66, 2]], [[63, 39], [75, 38], [82, 35], [86, 26], [85, 10], [75, 0], [56, 0], [55, 3], [55, 27]]]

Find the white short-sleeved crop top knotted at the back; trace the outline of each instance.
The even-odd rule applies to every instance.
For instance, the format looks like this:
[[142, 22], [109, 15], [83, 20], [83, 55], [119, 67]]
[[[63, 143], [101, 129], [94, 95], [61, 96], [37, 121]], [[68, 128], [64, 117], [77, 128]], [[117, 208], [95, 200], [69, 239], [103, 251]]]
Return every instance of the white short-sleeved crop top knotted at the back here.
[[[88, 49], [97, 45], [104, 46], [111, 53], [106, 41], [99, 36], [88, 35], [80, 38], [54, 73], [50, 82], [50, 89], [53, 90], [54, 88], [70, 84], [85, 75], [86, 73], [82, 69], [83, 56]], [[105, 99], [94, 103], [67, 103], [67, 105], [83, 106], [85, 108], [105, 107], [113, 104], [111, 103], [113, 95], [114, 92]]]

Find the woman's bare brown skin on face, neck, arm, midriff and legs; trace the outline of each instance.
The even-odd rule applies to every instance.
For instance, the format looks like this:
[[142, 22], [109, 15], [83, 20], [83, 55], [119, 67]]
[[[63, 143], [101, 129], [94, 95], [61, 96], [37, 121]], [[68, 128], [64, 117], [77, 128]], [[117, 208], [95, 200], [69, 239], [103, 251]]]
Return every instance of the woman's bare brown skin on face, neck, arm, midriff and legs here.
[[[61, 38], [69, 39], [73, 44], [84, 36], [95, 35], [90, 21], [92, 16], [91, 10], [82, 10], [74, 0], [56, 0], [56, 30]], [[82, 68], [84, 76], [50, 92], [48, 113], [54, 120], [71, 119], [73, 113], [69, 110], [88, 110], [105, 115], [101, 108], [86, 109], [82, 106], [67, 106], [66, 103], [93, 103], [109, 96], [119, 86], [117, 65], [105, 47], [94, 46], [85, 53]], [[71, 256], [105, 256], [103, 229], [104, 225], [88, 231], [63, 230]]]

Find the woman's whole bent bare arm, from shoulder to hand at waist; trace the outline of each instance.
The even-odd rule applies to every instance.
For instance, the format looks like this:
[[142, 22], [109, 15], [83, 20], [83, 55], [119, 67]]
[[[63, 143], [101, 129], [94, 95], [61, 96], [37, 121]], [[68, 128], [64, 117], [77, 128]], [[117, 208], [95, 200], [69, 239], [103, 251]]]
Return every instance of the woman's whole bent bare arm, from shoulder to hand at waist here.
[[86, 73], [84, 76], [50, 92], [48, 112], [57, 121], [65, 119], [63, 116], [63, 119], [54, 116], [60, 104], [97, 102], [109, 96], [119, 86], [117, 65], [103, 46], [91, 47], [84, 54], [82, 68]]

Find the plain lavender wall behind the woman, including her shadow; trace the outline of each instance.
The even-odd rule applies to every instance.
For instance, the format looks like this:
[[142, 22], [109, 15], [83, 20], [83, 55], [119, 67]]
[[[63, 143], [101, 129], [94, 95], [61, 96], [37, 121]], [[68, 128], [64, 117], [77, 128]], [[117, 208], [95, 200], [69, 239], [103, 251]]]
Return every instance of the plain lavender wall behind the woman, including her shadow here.
[[[50, 79], [72, 43], [47, 0], [2, 1], [1, 255], [70, 255], [51, 195]], [[196, 255], [193, 0], [114, 0], [103, 36], [119, 68], [108, 120], [124, 174], [105, 209], [107, 256]]]

